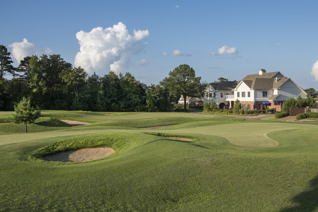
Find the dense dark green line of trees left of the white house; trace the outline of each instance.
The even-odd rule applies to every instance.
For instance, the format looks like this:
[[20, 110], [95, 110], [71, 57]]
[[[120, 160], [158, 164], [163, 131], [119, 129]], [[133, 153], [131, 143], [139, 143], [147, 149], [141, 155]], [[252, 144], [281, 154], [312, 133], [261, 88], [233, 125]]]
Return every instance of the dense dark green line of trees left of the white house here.
[[[42, 110], [171, 111], [171, 101], [181, 94], [201, 94], [205, 88], [188, 65], [176, 68], [184, 73], [174, 75], [175, 69], [158, 85], [147, 86], [129, 72], [89, 76], [58, 54], [27, 56], [18, 67], [12, 63], [10, 52], [0, 45], [0, 111], [12, 111], [23, 96]], [[6, 74], [13, 78], [4, 78]]]

